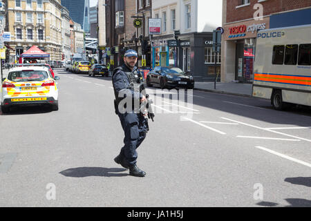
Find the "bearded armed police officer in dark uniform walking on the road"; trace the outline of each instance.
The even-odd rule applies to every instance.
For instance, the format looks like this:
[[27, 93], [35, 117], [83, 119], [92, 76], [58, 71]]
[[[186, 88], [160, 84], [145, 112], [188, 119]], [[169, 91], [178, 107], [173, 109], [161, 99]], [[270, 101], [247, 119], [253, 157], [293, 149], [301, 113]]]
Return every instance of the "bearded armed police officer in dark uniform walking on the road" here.
[[[138, 73], [138, 68], [135, 66], [137, 59], [138, 53], [135, 50], [127, 50], [124, 54], [124, 64], [113, 70], [115, 113], [119, 116], [124, 131], [124, 146], [114, 160], [129, 169], [130, 175], [144, 177], [146, 173], [136, 165], [138, 158], [136, 149], [145, 139], [149, 126], [148, 119], [145, 118], [146, 114], [140, 113], [140, 107], [135, 106], [135, 102], [136, 104], [146, 102], [142, 75]], [[135, 89], [134, 85], [138, 86], [139, 90]], [[120, 94], [125, 97], [120, 97]], [[130, 107], [122, 102], [126, 97], [133, 100]]]

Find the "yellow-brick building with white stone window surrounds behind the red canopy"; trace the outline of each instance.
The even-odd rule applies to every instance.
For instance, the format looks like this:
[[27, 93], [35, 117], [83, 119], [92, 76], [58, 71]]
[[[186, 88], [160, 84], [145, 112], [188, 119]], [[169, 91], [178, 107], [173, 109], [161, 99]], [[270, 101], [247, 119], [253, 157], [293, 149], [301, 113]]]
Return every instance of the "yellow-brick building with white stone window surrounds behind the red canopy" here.
[[19, 57], [31, 46], [62, 60], [62, 5], [60, 0], [8, 0], [10, 56]]

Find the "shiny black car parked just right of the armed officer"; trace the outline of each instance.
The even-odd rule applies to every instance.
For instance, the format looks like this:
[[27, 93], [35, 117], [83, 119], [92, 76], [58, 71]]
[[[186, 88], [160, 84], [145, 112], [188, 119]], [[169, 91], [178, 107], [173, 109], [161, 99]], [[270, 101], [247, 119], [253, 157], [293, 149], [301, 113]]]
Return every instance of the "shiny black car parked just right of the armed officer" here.
[[180, 68], [157, 66], [147, 75], [147, 86], [160, 85], [160, 88], [194, 88], [194, 77]]

